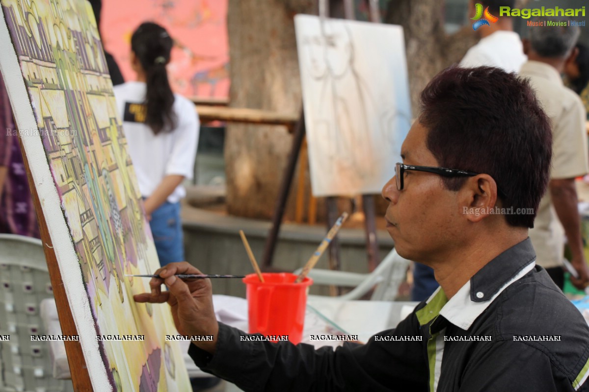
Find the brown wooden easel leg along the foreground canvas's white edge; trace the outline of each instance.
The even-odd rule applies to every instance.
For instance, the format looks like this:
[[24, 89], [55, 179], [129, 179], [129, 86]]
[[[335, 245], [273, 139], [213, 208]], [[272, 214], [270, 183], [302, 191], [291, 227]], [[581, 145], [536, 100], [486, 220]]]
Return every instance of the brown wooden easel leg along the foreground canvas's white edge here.
[[[37, 221], [39, 223], [39, 232], [41, 233], [41, 241], [43, 242], [43, 250], [45, 252], [45, 260], [47, 260], [47, 269], [49, 270], [49, 279], [51, 279], [51, 286], [53, 295], [55, 296], [55, 304], [57, 305], [57, 314], [59, 316], [59, 324], [61, 324], [61, 333], [63, 335], [77, 335], [78, 330], [74, 324], [74, 317], [72, 316], [70, 303], [65, 294], [64, 282], [61, 280], [61, 272], [59, 272], [59, 265], [57, 264], [57, 257], [51, 237], [49, 237], [49, 230], [47, 229], [47, 222], [41, 209], [41, 202], [39, 202], [39, 195], [37, 188], [32, 179], [31, 169], [27, 160], [27, 153], [22, 148], [21, 139], [18, 139], [21, 145], [22, 157], [24, 158], [25, 169], [27, 170], [27, 177], [29, 180], [29, 187], [31, 188], [31, 196], [35, 205], [35, 212], [37, 213]], [[68, 356], [68, 364], [70, 366], [70, 373], [72, 376], [72, 384], [76, 392], [91, 392], [92, 383], [90, 382], [90, 375], [88, 374], [88, 367], [84, 360], [82, 353], [82, 346], [79, 341], [64, 341], [65, 353]]]

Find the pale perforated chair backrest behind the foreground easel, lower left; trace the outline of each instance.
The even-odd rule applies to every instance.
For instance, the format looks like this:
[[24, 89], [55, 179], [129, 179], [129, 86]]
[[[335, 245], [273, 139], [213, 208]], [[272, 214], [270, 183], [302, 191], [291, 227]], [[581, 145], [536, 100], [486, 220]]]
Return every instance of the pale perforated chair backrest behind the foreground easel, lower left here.
[[52, 377], [39, 316], [41, 300], [53, 297], [40, 240], [0, 234], [0, 392], [73, 391], [70, 380]]

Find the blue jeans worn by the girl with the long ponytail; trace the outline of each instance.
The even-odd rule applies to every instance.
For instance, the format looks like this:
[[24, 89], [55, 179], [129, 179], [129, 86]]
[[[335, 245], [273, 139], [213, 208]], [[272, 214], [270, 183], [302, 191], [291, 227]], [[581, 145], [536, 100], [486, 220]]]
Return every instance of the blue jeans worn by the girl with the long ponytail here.
[[165, 202], [151, 213], [149, 223], [160, 265], [183, 262], [185, 259], [180, 203]]

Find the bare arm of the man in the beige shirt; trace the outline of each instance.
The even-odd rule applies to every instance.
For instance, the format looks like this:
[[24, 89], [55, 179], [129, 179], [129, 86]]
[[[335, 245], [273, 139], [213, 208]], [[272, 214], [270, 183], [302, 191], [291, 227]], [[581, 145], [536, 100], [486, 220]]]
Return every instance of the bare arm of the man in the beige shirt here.
[[552, 205], [554, 205], [558, 220], [567, 235], [568, 246], [573, 256], [571, 264], [579, 274], [579, 279], [571, 278], [571, 282], [578, 289], [584, 289], [589, 283], [589, 268], [585, 260], [583, 239], [581, 239], [581, 218], [577, 207], [575, 179], [552, 179], [548, 187], [552, 197]]

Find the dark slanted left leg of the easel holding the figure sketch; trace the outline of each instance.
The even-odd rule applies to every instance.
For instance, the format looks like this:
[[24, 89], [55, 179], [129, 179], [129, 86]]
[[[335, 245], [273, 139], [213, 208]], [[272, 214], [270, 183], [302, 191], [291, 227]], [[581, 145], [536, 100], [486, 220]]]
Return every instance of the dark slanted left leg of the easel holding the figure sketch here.
[[276, 240], [282, 225], [282, 217], [284, 216], [284, 208], [286, 207], [286, 200], [289, 197], [290, 184], [294, 176], [294, 169], [296, 169], [296, 161], [299, 158], [299, 152], [305, 136], [305, 113], [301, 109], [299, 122], [297, 123], [296, 132], [294, 132], [293, 146], [290, 150], [289, 162], [284, 170], [282, 183], [278, 192], [278, 200], [274, 208], [274, 216], [272, 218], [272, 229], [266, 239], [264, 246], [264, 257], [262, 259], [262, 268], [272, 266], [272, 258], [274, 256], [274, 249], [276, 248]]

